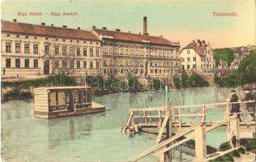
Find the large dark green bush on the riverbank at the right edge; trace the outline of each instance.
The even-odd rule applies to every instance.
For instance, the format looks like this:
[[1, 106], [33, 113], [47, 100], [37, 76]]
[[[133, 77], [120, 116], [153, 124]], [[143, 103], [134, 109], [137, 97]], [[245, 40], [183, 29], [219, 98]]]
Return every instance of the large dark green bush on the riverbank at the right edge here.
[[251, 50], [250, 55], [244, 58], [237, 71], [226, 78], [215, 75], [215, 83], [220, 87], [237, 87], [246, 83], [256, 82], [256, 50]]

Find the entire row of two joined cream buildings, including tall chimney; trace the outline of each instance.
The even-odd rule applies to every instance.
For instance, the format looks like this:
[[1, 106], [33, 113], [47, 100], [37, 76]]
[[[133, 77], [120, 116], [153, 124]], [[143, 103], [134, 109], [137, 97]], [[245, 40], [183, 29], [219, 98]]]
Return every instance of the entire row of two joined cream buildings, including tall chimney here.
[[2, 77], [66, 75], [167, 76], [181, 70], [178, 42], [143, 34], [2, 21]]

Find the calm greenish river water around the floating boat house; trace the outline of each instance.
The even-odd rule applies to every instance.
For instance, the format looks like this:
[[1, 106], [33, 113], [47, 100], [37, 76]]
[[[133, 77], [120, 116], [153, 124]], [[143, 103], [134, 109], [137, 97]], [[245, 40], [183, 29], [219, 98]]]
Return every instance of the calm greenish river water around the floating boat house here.
[[[241, 89], [238, 96], [241, 96]], [[230, 89], [203, 87], [169, 91], [172, 105], [222, 102]], [[2, 159], [6, 161], [127, 161], [155, 144], [156, 135], [128, 137], [121, 126], [130, 107], [164, 105], [164, 91], [117, 93], [92, 100], [105, 104], [105, 113], [61, 117], [51, 120], [32, 116], [32, 102], [13, 100], [2, 104]], [[190, 111], [190, 109], [186, 110]], [[211, 109], [207, 118], [221, 118]], [[219, 147], [227, 140], [220, 128], [207, 134], [207, 144]], [[186, 155], [184, 156], [186, 157]], [[151, 155], [144, 161], [156, 161]]]

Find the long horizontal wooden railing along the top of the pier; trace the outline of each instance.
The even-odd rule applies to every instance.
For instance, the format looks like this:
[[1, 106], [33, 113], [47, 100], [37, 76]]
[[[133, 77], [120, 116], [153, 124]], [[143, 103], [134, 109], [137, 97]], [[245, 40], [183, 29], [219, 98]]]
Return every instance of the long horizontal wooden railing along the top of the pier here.
[[[193, 122], [190, 122], [191, 125], [196, 124], [198, 122], [207, 122], [207, 109], [224, 109], [223, 112], [219, 112], [223, 114], [223, 118], [229, 117], [233, 114], [252, 114], [254, 112], [241, 111], [240, 113], [230, 113], [230, 105], [231, 104], [253, 104], [254, 100], [250, 101], [238, 101], [238, 102], [222, 102], [215, 104], [194, 104], [194, 105], [182, 105], [182, 106], [162, 106], [162, 107], [151, 107], [151, 108], [142, 108], [142, 109], [130, 109], [130, 121], [126, 123], [127, 126], [139, 124], [141, 126], [161, 126], [161, 123], [164, 120], [164, 116], [169, 115], [166, 114], [166, 111], [170, 111], [170, 115], [172, 118], [173, 125], [179, 127], [179, 131], [182, 128], [182, 122], [187, 122], [187, 120], [183, 121], [183, 117], [193, 117]], [[193, 113], [183, 113], [184, 109], [193, 109]], [[200, 120], [197, 121], [194, 118], [199, 117]], [[211, 122], [219, 122], [219, 121], [211, 121]]]

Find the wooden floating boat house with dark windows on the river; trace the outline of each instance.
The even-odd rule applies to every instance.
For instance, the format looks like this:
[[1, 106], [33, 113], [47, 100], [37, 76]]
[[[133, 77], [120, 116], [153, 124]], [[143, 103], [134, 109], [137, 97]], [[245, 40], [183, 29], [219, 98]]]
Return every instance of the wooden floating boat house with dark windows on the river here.
[[104, 111], [104, 105], [92, 102], [91, 87], [37, 87], [34, 89], [35, 117], [65, 117]]

